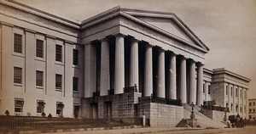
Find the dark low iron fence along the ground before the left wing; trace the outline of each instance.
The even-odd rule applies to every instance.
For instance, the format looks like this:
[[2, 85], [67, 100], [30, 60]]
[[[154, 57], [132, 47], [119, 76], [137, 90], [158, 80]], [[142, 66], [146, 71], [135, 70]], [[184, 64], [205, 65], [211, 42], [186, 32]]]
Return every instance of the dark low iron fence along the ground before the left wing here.
[[0, 128], [17, 128], [31, 126], [33, 128], [55, 127], [113, 127], [113, 126], [142, 126], [143, 118], [109, 118], [109, 119], [73, 119], [73, 118], [43, 118], [36, 116], [4, 116], [0, 115]]

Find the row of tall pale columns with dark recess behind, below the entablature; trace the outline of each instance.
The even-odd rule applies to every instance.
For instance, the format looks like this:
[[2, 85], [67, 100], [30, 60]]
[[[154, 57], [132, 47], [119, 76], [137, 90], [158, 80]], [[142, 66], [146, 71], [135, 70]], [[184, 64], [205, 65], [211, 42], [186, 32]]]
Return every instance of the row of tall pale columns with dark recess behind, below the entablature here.
[[[203, 65], [200, 61], [120, 33], [106, 36], [86, 46], [88, 47], [84, 47], [85, 53], [89, 51], [86, 49], [96, 50], [96, 47], [101, 50], [100, 53], [92, 51], [90, 59], [85, 58], [85, 66], [88, 63], [95, 63], [96, 67], [101, 66], [99, 72], [91, 74], [95, 76], [89, 78], [90, 84], [95, 87], [85, 94], [87, 98], [91, 98], [93, 92], [100, 92], [100, 96], [109, 95], [110, 89], [114, 89], [114, 94], [120, 94], [124, 92], [124, 87], [137, 85], [138, 92], [141, 92], [143, 97], [155, 96], [180, 99], [182, 103], [202, 104]], [[110, 52], [114, 52], [112, 62]], [[196, 69], [198, 72], [195, 74]], [[111, 70], [114, 70], [113, 79], [110, 79]], [[96, 86], [97, 80], [100, 80], [100, 86]], [[84, 83], [86, 85], [88, 81]]]

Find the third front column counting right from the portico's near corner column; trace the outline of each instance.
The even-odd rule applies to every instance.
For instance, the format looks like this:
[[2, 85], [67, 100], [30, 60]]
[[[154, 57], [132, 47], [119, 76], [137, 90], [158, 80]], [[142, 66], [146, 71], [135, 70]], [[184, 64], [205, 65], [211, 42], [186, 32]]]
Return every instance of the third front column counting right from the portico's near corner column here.
[[148, 97], [153, 93], [153, 59], [152, 46], [145, 47], [145, 72], [144, 72], [144, 90], [143, 96]]

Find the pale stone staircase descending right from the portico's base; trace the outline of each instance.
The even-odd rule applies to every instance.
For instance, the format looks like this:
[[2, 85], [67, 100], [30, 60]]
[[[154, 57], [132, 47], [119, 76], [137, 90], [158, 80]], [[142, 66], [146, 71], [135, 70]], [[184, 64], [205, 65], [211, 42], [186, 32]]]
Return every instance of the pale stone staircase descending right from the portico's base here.
[[[191, 106], [189, 104], [183, 104], [184, 107], [184, 119], [189, 119], [191, 114]], [[222, 122], [212, 120], [208, 118], [206, 115], [201, 114], [200, 107], [195, 106], [194, 112], [195, 112], [195, 119], [197, 119], [197, 124], [201, 127], [205, 128], [224, 128], [225, 125]]]

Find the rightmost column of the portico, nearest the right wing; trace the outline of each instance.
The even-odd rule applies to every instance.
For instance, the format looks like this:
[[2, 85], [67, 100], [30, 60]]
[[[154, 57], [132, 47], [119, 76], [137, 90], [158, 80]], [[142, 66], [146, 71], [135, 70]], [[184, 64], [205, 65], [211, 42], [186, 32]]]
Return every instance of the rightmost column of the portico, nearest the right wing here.
[[[206, 91], [207, 94], [207, 91]], [[197, 105], [203, 104], [203, 64], [197, 63]]]

